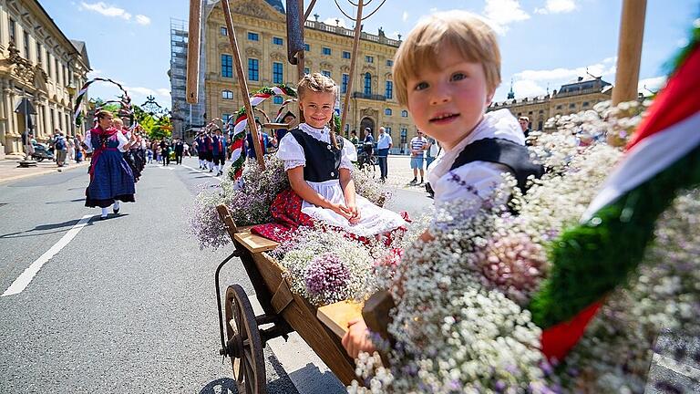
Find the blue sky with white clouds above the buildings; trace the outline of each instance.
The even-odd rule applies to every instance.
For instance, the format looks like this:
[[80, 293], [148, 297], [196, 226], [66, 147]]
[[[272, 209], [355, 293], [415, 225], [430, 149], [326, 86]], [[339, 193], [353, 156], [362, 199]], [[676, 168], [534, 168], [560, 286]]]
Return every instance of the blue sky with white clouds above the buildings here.
[[[187, 19], [183, 0], [114, 0], [97, 2], [40, 0], [64, 33], [86, 41], [93, 68], [91, 77], [123, 82], [133, 102], [156, 97], [170, 107], [170, 17]], [[308, 4], [309, 1], [304, 3]], [[347, 0], [345, 13], [355, 14]], [[373, 10], [381, 0], [368, 6]], [[382, 27], [387, 36], [406, 36], [421, 16], [435, 11], [464, 9], [488, 18], [499, 32], [503, 84], [495, 99], [510, 89], [516, 97], [530, 97], [559, 88], [585, 76], [585, 68], [614, 83], [615, 57], [622, 1], [616, 0], [386, 0], [364, 22], [365, 31]], [[314, 14], [320, 21], [352, 27], [332, 0], [318, 0]], [[641, 85], [663, 84], [666, 62], [683, 46], [688, 30], [700, 16], [700, 0], [648, 0], [644, 28]], [[312, 18], [314, 16], [311, 16]], [[94, 88], [93, 88], [94, 87]], [[95, 84], [91, 97], [113, 99], [116, 88]]]

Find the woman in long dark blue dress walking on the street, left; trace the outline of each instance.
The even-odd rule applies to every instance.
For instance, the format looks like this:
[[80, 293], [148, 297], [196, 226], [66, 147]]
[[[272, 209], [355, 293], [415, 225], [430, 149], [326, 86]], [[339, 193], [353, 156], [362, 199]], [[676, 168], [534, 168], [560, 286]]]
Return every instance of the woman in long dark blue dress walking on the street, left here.
[[131, 142], [121, 130], [111, 127], [113, 116], [110, 112], [100, 110], [97, 118], [97, 126], [85, 137], [88, 148], [93, 150], [85, 206], [102, 208], [100, 219], [106, 219], [109, 205], [113, 206], [114, 213], [118, 213], [119, 201], [136, 201], [136, 188], [134, 174], [122, 153], [129, 149]]

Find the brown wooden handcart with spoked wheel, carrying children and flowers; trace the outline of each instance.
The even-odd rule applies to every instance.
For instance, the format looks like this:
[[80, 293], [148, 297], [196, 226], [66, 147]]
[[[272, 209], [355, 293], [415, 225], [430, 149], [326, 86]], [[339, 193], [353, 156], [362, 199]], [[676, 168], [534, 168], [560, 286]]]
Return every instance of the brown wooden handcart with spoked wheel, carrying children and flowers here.
[[[337, 333], [316, 317], [317, 308], [290, 290], [290, 285], [283, 276], [283, 267], [268, 254], [278, 244], [251, 233], [250, 227], [237, 227], [225, 205], [219, 205], [217, 210], [236, 248], [233, 254], [219, 264], [215, 275], [221, 334], [220, 354], [231, 358], [239, 392], [265, 392], [262, 349], [270, 339], [283, 337], [286, 340], [293, 331], [314, 349], [337, 378], [349, 385], [355, 379], [353, 359], [347, 356]], [[262, 306], [263, 314], [260, 316], [255, 316], [243, 287], [237, 284], [226, 288], [221, 307], [221, 268], [233, 257], [241, 258], [251, 279], [255, 296]]]

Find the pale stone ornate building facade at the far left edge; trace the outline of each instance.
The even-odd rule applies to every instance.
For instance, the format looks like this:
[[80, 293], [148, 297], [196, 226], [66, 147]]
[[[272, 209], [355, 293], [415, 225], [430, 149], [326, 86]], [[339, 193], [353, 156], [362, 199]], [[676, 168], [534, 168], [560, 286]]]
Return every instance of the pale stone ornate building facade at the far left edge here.
[[0, 0], [0, 156], [21, 154], [26, 130], [39, 141], [55, 129], [84, 133], [72, 113], [89, 69], [85, 43], [68, 39], [38, 1]]

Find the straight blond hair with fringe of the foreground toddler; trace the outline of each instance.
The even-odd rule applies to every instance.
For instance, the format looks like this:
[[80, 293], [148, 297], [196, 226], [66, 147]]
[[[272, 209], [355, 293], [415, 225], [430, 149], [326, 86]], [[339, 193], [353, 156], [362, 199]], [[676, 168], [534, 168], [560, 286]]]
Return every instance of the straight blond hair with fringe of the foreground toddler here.
[[489, 92], [499, 87], [500, 51], [493, 29], [479, 16], [448, 11], [418, 22], [398, 47], [392, 74], [399, 104], [408, 104], [407, 80], [418, 78], [426, 67], [437, 69], [440, 51], [446, 47], [456, 50], [468, 62], [481, 63]]

